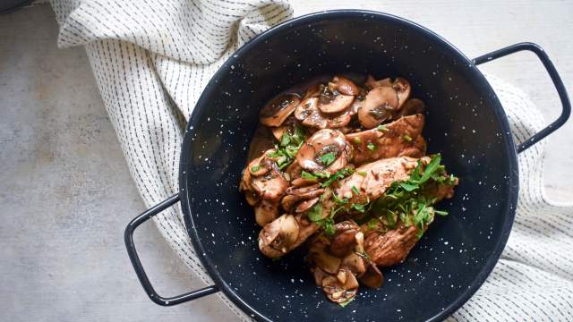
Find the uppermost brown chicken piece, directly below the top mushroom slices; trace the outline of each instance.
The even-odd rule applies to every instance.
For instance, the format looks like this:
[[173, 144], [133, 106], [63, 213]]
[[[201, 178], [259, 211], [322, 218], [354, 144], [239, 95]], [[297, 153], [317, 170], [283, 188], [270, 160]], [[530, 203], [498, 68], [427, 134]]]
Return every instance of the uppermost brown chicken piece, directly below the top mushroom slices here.
[[[411, 155], [421, 157], [425, 152], [422, 136], [423, 114], [404, 116], [379, 128], [346, 134], [346, 140], [352, 144], [354, 156], [352, 162], [361, 165], [365, 162], [384, 157]], [[420, 150], [416, 153], [411, 148]], [[401, 153], [406, 150], [406, 153]]]

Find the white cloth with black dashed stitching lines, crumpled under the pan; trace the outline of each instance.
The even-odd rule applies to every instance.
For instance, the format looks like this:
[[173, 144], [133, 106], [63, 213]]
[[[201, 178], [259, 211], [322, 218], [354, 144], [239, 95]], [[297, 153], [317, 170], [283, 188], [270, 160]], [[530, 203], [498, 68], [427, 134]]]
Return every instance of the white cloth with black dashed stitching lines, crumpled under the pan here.
[[[147, 206], [177, 191], [184, 125], [211, 75], [238, 47], [292, 17], [286, 1], [52, 0], [60, 47], [84, 46], [111, 122]], [[517, 141], [543, 124], [519, 90], [489, 78]], [[543, 192], [543, 142], [519, 155], [517, 218], [499, 264], [453, 320], [573, 317], [573, 204]], [[206, 284], [179, 208], [154, 218], [158, 230]], [[250, 318], [219, 297], [241, 320]]]

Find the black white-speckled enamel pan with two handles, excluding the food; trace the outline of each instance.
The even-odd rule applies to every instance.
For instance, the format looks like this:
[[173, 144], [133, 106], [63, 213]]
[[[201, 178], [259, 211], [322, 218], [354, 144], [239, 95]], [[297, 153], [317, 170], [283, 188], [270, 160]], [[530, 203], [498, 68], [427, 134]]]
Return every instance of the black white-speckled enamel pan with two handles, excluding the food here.
[[[560, 118], [516, 148], [500, 101], [477, 64], [533, 51], [560, 95]], [[346, 308], [330, 303], [295, 252], [273, 262], [257, 246], [260, 228], [238, 192], [259, 108], [283, 89], [316, 75], [370, 72], [403, 76], [428, 106], [424, 137], [460, 178], [456, 196], [406, 262], [383, 271], [379, 290], [360, 288]], [[225, 292], [261, 321], [437, 321], [483, 284], [509, 236], [517, 202], [517, 153], [565, 123], [569, 98], [558, 73], [531, 43], [468, 59], [413, 22], [355, 10], [286, 21], [239, 49], [210, 80], [184, 136], [180, 191], [128, 225], [125, 243], [151, 300], [175, 305]], [[185, 225], [215, 285], [173, 298], [152, 288], [133, 246], [133, 230], [181, 200]]]

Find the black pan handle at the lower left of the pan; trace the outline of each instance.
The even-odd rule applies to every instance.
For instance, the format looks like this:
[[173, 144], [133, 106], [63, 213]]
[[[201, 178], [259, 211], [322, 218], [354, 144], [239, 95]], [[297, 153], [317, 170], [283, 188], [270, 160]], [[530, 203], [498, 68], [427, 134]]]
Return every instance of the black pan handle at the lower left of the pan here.
[[200, 290], [195, 290], [192, 292], [187, 292], [182, 295], [177, 295], [170, 298], [164, 298], [159, 295], [151, 286], [149, 278], [145, 274], [143, 267], [141, 266], [141, 260], [139, 256], [137, 256], [137, 250], [135, 250], [135, 245], [133, 244], [133, 231], [139, 225], [143, 224], [147, 220], [149, 220], [152, 216], [156, 216], [161, 211], [175, 205], [175, 203], [179, 201], [179, 194], [175, 194], [168, 199], [158, 203], [152, 208], [144, 211], [140, 216], [136, 216], [133, 218], [131, 223], [125, 227], [124, 233], [124, 240], [125, 240], [125, 247], [127, 248], [127, 253], [129, 254], [129, 258], [132, 260], [133, 269], [135, 269], [135, 274], [140, 279], [141, 285], [145, 292], [147, 292], [148, 296], [150, 297], [151, 301], [156, 302], [162, 306], [171, 306], [181, 304], [186, 301], [192, 301], [195, 299], [199, 299], [203, 296], [210, 295], [214, 292], [218, 292], [218, 287], [216, 285], [211, 285]]

